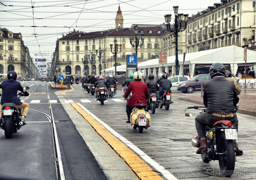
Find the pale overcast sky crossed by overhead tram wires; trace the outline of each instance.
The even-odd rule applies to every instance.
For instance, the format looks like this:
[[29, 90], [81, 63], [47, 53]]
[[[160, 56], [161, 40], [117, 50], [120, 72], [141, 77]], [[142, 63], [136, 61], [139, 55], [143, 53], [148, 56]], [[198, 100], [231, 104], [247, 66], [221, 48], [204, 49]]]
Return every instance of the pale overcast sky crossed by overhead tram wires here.
[[172, 6], [179, 6], [178, 13], [192, 16], [214, 3], [220, 0], [0, 0], [0, 26], [22, 33], [32, 58], [51, 61], [62, 34], [73, 29], [114, 29], [118, 4], [124, 27], [131, 27], [132, 23], [160, 25], [166, 14], [174, 18]]

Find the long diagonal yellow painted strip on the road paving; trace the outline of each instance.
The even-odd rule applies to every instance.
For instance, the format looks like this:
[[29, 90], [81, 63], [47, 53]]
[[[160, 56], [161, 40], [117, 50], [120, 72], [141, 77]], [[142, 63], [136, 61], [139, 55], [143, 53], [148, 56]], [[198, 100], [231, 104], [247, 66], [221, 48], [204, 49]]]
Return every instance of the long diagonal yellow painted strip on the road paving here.
[[112, 135], [103, 125], [98, 123], [91, 115], [86, 113], [76, 103], [70, 103], [84, 119], [95, 129], [95, 131], [114, 149], [114, 151], [128, 164], [139, 179], [162, 180], [142, 159], [132, 152], [119, 139]]

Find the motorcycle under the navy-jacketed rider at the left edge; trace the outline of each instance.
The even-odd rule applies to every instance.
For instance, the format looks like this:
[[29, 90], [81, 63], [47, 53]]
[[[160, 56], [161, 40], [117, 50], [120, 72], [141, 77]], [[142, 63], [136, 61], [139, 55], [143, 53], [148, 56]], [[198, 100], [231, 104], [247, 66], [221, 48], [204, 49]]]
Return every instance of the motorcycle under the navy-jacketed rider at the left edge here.
[[[24, 87], [29, 90], [29, 87]], [[17, 97], [20, 101], [20, 97], [24, 96], [22, 92], [19, 92]], [[13, 137], [13, 133], [23, 126], [21, 121], [21, 109], [18, 109], [14, 103], [4, 103], [2, 108], [2, 117], [0, 118], [0, 129], [4, 130], [4, 135], [7, 139]]]

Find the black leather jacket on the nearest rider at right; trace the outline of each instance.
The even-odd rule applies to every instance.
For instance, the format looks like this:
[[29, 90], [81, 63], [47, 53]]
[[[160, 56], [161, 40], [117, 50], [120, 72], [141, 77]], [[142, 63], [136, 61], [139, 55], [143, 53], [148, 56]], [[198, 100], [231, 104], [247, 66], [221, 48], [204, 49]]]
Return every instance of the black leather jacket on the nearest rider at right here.
[[239, 101], [236, 86], [224, 76], [215, 76], [204, 83], [203, 99], [210, 114], [235, 113], [234, 107]]

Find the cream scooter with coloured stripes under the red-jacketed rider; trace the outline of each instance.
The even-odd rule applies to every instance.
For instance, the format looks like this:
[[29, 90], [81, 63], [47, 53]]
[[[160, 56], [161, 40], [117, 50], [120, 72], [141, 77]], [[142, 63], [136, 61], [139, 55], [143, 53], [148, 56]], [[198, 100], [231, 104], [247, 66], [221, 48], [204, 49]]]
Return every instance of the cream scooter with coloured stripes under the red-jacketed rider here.
[[[128, 98], [127, 98], [128, 99]], [[133, 129], [139, 129], [139, 133], [143, 132], [143, 129], [148, 129], [150, 127], [150, 114], [145, 111], [148, 105], [145, 103], [138, 103], [132, 109], [130, 114], [130, 122]]]

